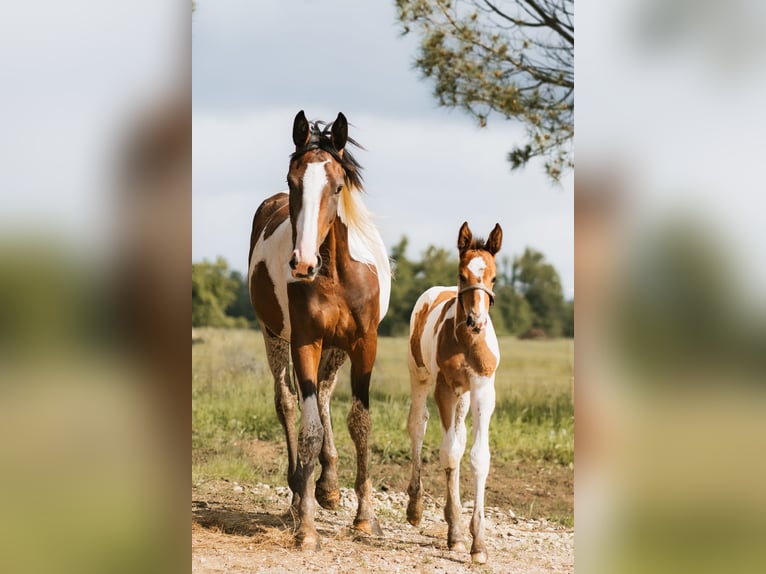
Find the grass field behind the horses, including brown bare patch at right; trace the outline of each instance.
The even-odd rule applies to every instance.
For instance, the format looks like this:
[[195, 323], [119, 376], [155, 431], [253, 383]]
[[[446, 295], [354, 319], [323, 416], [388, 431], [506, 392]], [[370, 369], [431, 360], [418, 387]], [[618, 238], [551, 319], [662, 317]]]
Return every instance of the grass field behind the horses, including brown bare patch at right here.
[[[273, 379], [260, 333], [199, 329], [192, 348], [192, 480], [286, 484], [284, 435], [274, 412]], [[409, 478], [407, 434], [409, 375], [406, 338], [382, 338], [373, 371], [371, 475], [376, 487], [405, 490]], [[490, 424], [492, 471], [487, 504], [521, 515], [573, 522], [574, 342], [500, 339]], [[354, 448], [346, 430], [350, 407], [348, 363], [332, 404], [342, 486], [354, 481]], [[426, 489], [444, 494], [439, 466], [440, 425], [433, 401], [423, 445]], [[468, 417], [471, 444], [470, 415]], [[468, 455], [461, 484], [471, 498]]]

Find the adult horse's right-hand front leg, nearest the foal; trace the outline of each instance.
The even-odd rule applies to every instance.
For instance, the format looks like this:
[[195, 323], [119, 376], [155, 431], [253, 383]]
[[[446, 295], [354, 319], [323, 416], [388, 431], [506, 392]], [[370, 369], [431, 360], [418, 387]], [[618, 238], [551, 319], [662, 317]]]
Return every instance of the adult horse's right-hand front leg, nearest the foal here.
[[348, 430], [356, 448], [356, 491], [357, 510], [354, 528], [382, 536], [378, 519], [372, 509], [372, 483], [368, 475], [370, 457], [370, 376], [375, 363], [378, 335], [372, 331], [363, 344], [351, 352], [351, 410], [348, 413]]

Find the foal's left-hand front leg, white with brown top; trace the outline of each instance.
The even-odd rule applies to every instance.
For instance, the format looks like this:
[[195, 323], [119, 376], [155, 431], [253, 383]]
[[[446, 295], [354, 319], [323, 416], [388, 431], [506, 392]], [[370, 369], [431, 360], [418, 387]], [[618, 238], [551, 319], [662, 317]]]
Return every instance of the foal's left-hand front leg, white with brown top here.
[[465, 552], [463, 528], [460, 525], [460, 459], [465, 452], [465, 417], [471, 401], [466, 393], [455, 395], [441, 374], [436, 379], [434, 396], [442, 421], [439, 458], [447, 477], [447, 503], [444, 505], [444, 518], [448, 524], [447, 545], [455, 552]]

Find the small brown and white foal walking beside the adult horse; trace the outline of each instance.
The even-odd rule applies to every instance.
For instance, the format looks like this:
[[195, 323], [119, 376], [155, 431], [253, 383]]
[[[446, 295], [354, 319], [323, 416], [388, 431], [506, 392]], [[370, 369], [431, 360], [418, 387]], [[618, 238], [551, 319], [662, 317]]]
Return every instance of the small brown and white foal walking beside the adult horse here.
[[471, 519], [471, 558], [487, 562], [484, 543], [484, 488], [489, 473], [489, 420], [495, 409], [495, 371], [500, 361], [489, 307], [503, 231], [499, 224], [487, 241], [473, 238], [465, 222], [458, 234], [457, 287], [431, 287], [415, 303], [410, 318], [408, 367], [411, 403], [407, 422], [412, 443], [412, 474], [407, 488], [407, 520], [417, 526], [423, 513], [421, 448], [428, 423], [426, 399], [434, 399], [442, 423], [440, 461], [447, 476], [444, 518], [449, 549], [465, 552], [460, 526], [460, 460], [466, 444], [465, 417], [473, 417], [471, 468], [475, 498]]

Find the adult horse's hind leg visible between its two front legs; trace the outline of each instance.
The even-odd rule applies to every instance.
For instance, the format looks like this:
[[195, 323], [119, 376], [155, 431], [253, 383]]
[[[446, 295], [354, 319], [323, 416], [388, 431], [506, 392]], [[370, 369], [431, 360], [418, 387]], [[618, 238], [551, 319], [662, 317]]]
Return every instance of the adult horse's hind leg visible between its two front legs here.
[[316, 483], [317, 502], [328, 510], [337, 508], [340, 502], [340, 487], [338, 486], [338, 451], [332, 434], [332, 418], [330, 417], [330, 400], [338, 380], [338, 369], [346, 361], [346, 353], [340, 349], [322, 351], [319, 363], [319, 418], [324, 427], [322, 450], [319, 451], [319, 462], [322, 464], [322, 474]]

